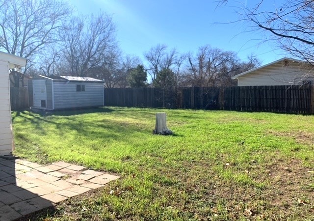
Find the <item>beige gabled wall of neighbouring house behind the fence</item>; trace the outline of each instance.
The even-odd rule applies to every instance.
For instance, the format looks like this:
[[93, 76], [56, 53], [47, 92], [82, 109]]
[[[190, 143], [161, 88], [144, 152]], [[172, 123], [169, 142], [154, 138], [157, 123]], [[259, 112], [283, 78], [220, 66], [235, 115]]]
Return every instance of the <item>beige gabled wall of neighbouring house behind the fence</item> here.
[[300, 65], [297, 62], [289, 62], [285, 67], [284, 62], [278, 62], [249, 74], [240, 76], [238, 86], [262, 86], [262, 85], [290, 85], [302, 84], [304, 80], [312, 80], [309, 74], [314, 73], [310, 65]]

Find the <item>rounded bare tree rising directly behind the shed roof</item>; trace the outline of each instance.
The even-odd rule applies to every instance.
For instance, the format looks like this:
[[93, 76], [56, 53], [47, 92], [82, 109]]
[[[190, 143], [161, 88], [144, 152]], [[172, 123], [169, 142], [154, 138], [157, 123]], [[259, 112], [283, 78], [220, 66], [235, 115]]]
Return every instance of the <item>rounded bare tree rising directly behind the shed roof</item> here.
[[106, 60], [111, 62], [118, 48], [115, 31], [112, 18], [105, 13], [72, 19], [64, 34], [68, 74], [86, 76], [91, 70], [104, 66]]

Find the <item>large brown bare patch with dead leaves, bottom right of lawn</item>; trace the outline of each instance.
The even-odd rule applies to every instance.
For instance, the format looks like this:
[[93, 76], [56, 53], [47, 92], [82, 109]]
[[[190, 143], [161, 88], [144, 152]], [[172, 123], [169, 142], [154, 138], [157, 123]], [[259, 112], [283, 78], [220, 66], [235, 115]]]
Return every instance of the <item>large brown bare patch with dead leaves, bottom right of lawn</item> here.
[[[183, 189], [193, 195], [193, 203], [206, 205], [211, 202], [210, 216], [225, 216], [226, 220], [275, 221], [306, 220], [312, 214], [314, 218], [314, 174], [308, 172], [313, 168], [303, 166], [299, 160], [273, 159], [269, 164], [250, 167], [248, 176], [257, 183], [264, 182], [266, 185], [263, 188], [223, 180], [210, 171], [209, 163], [194, 164], [192, 167], [189, 170], [191, 173], [181, 177]], [[189, 176], [197, 174], [202, 168], [209, 168], [207, 178]], [[245, 168], [241, 172], [244, 171]], [[189, 211], [200, 213], [194, 206], [187, 206]]]

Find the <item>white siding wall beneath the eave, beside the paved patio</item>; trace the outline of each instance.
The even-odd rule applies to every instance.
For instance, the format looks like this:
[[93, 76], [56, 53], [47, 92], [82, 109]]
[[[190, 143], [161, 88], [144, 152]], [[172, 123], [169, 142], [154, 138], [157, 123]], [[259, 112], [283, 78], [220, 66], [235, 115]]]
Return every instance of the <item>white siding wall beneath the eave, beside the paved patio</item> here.
[[0, 60], [0, 155], [10, 154], [13, 145], [8, 70], [8, 62]]

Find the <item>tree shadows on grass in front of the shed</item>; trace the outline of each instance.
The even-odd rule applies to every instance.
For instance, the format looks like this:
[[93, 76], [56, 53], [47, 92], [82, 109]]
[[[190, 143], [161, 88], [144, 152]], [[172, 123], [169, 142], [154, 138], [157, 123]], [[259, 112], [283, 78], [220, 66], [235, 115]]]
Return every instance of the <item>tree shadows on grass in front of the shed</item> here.
[[[17, 111], [12, 114], [12, 122], [18, 118], [23, 119], [25, 125], [32, 125], [35, 133], [41, 136], [55, 136], [59, 139], [68, 137], [68, 134], [76, 134], [72, 139], [73, 142], [79, 139], [93, 139], [105, 140], [115, 139], [128, 142], [131, 134], [143, 133], [148, 131], [141, 130], [137, 125], [128, 124], [126, 122], [118, 122], [113, 119], [102, 119], [97, 116], [79, 116], [84, 113], [108, 113], [114, 110], [109, 108], [93, 108], [81, 110], [67, 110], [67, 111]], [[52, 116], [52, 117], [48, 117]], [[62, 116], [55, 118], [53, 116]], [[74, 117], [73, 117], [74, 116]], [[27, 129], [28, 130], [28, 129]], [[29, 128], [29, 130], [31, 130]], [[53, 131], [53, 132], [52, 132]], [[126, 136], [128, 135], [128, 136]], [[25, 135], [16, 134], [17, 138], [26, 140]], [[30, 140], [29, 140], [30, 141]]]

